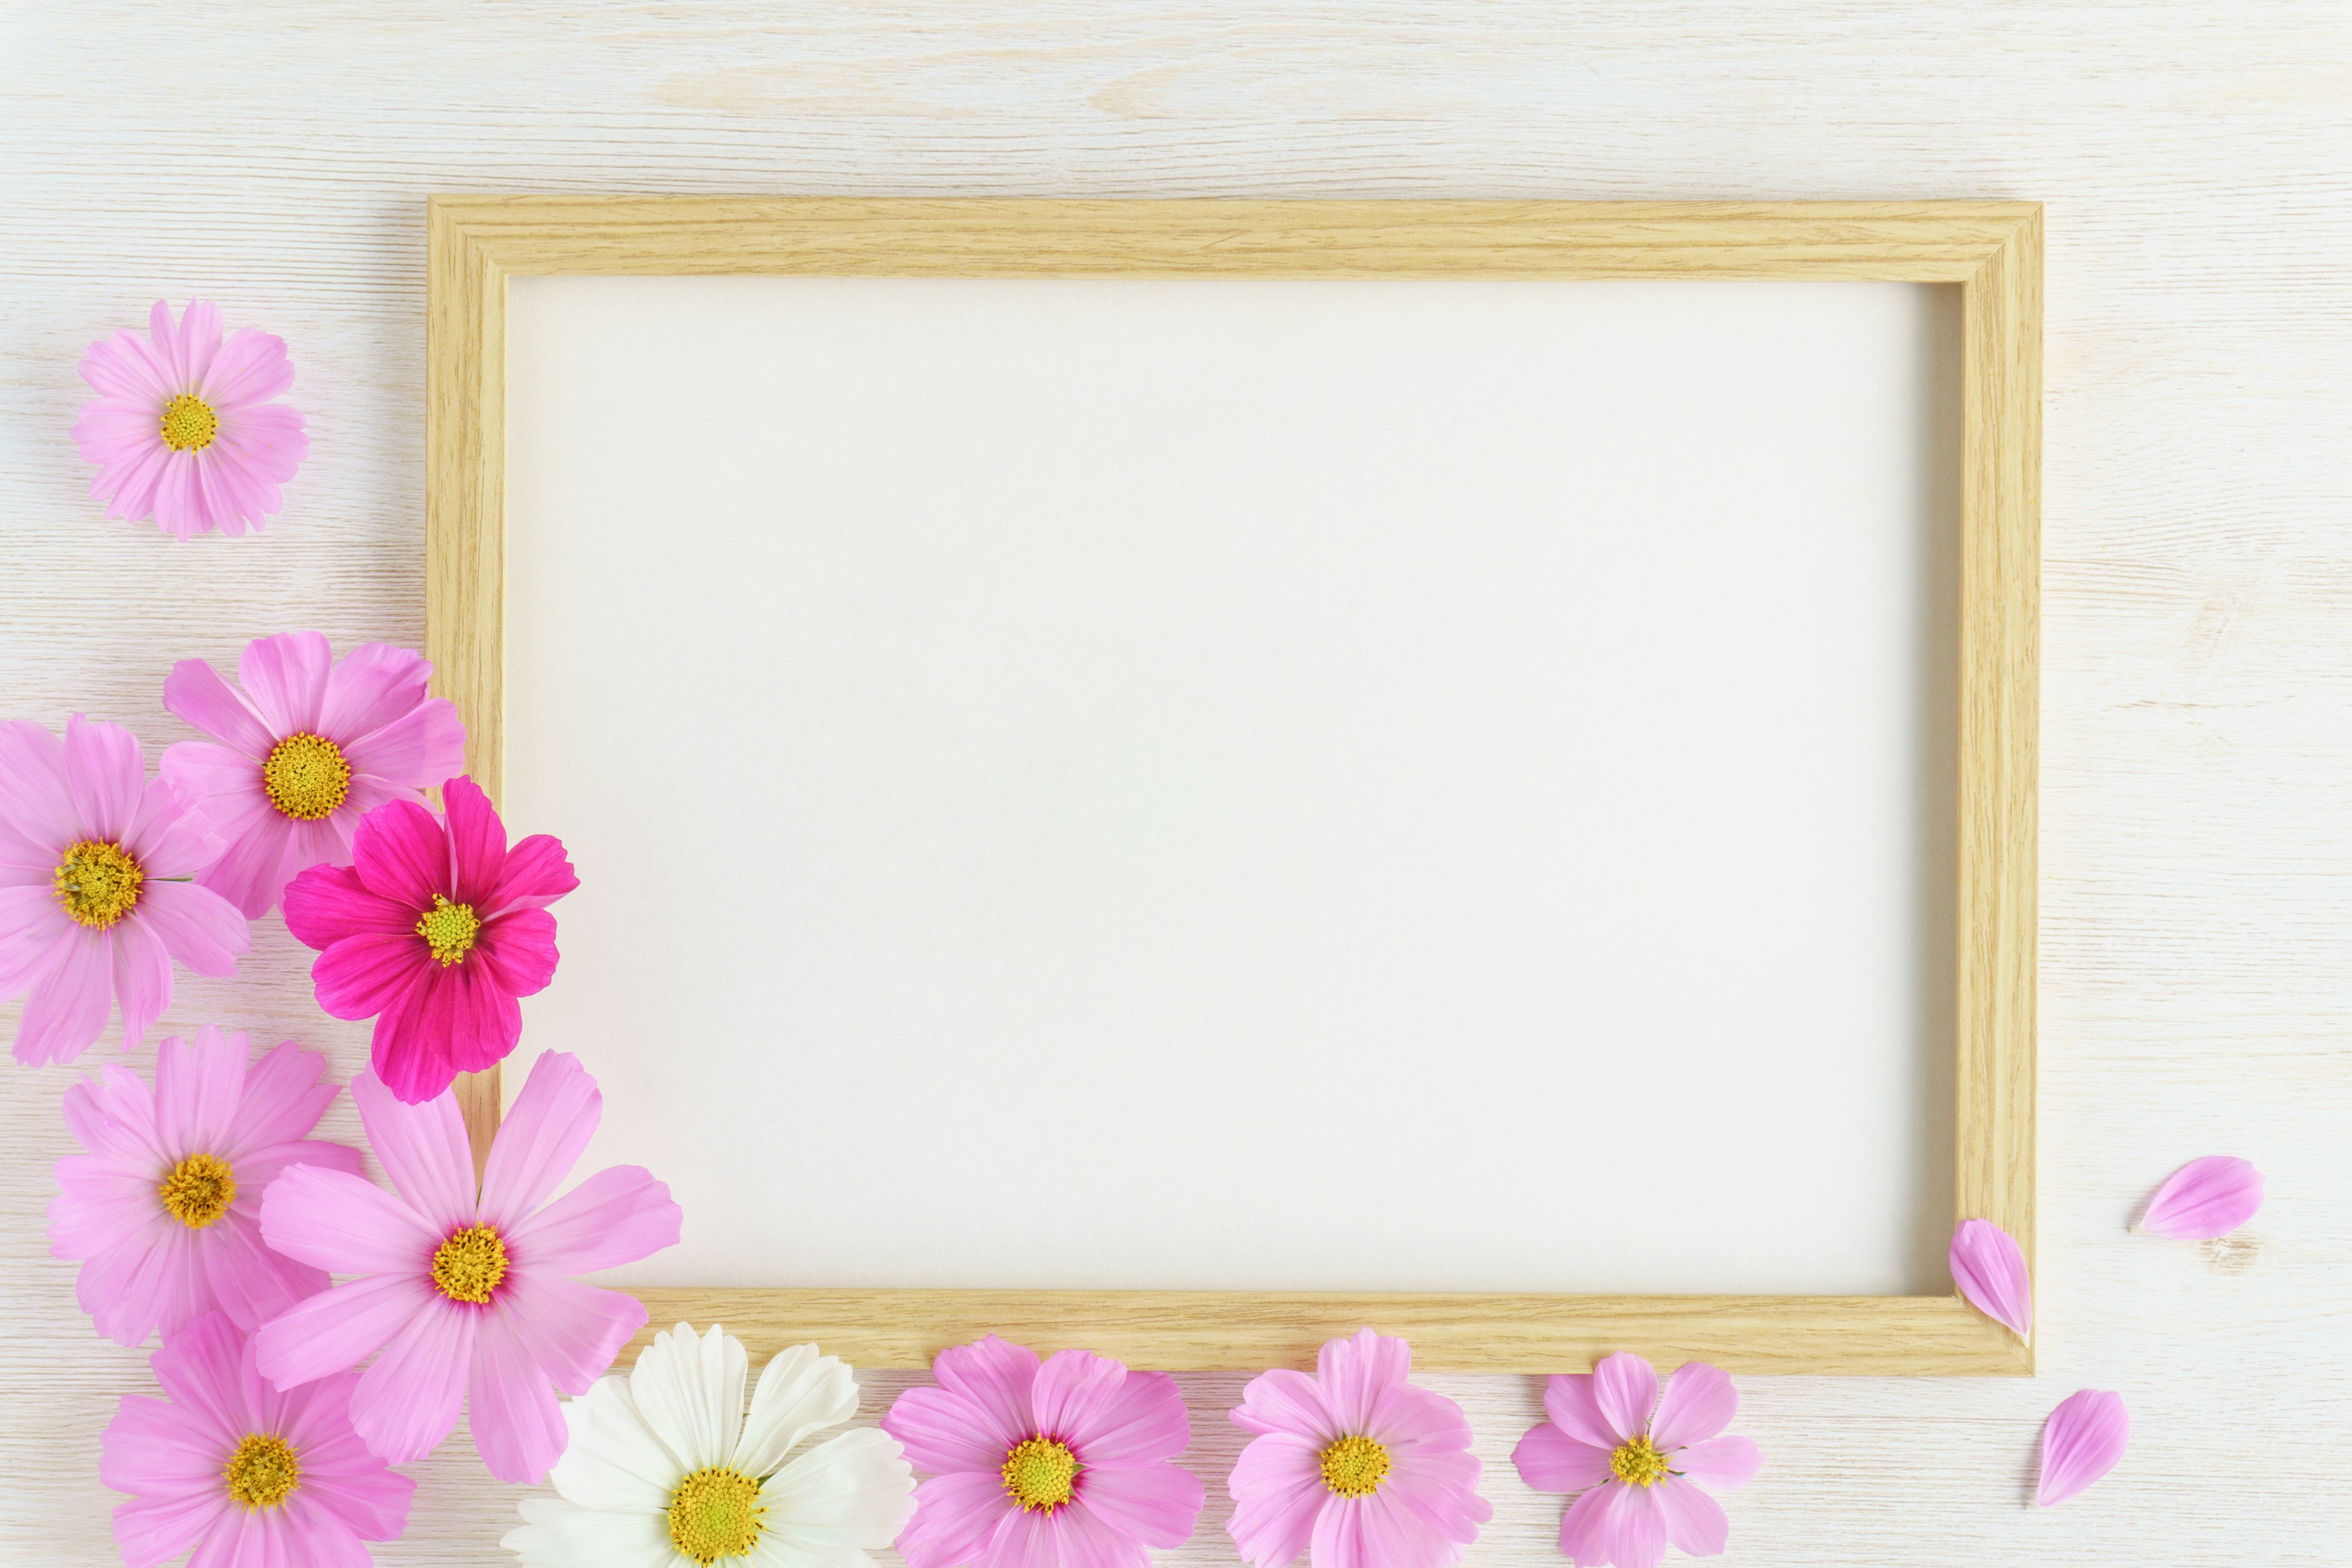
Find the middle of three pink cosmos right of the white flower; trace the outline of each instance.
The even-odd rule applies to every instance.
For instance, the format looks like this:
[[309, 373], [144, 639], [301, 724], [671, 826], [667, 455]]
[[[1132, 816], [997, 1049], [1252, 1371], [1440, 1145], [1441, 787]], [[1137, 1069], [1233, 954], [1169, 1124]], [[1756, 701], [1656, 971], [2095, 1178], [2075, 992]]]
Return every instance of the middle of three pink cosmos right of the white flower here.
[[1494, 1509], [1477, 1495], [1470, 1420], [1406, 1382], [1414, 1349], [1369, 1328], [1327, 1340], [1315, 1375], [1251, 1378], [1232, 1425], [1225, 1530], [1242, 1561], [1284, 1568], [1451, 1568]]

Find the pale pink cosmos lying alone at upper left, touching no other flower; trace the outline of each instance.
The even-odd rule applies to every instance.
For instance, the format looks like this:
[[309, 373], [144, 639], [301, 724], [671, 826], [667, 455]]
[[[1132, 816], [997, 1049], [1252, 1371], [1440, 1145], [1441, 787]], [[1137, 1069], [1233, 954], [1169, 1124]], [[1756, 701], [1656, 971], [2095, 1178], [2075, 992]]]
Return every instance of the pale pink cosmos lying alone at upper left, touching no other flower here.
[[96, 397], [73, 440], [99, 465], [89, 494], [113, 501], [108, 517], [153, 515], [165, 534], [235, 538], [278, 510], [278, 487], [310, 449], [301, 414], [270, 402], [294, 386], [285, 339], [240, 327], [223, 343], [221, 313], [200, 299], [179, 327], [158, 299], [146, 339], [118, 331], [92, 343], [82, 381]]

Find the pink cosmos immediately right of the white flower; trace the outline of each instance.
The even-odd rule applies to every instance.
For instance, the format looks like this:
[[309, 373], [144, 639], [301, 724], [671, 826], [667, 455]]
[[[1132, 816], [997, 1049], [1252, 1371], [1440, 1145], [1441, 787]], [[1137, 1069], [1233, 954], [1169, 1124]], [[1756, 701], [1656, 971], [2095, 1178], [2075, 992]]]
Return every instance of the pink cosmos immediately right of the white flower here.
[[898, 1535], [908, 1568], [1143, 1568], [1181, 1547], [1207, 1490], [1167, 1373], [1063, 1349], [1044, 1366], [988, 1335], [938, 1352], [938, 1387], [898, 1394], [882, 1429], [931, 1479]]

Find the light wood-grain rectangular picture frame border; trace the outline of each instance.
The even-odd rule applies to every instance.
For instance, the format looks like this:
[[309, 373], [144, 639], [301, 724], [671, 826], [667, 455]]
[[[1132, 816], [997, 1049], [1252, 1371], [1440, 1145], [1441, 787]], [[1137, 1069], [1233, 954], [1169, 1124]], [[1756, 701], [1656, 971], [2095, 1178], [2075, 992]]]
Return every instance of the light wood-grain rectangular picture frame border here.
[[[1959, 284], [1962, 578], [1957, 1213], [2034, 1255], [2042, 207], [2030, 202], [1047, 202], [440, 195], [428, 205], [426, 646], [496, 799], [506, 637], [506, 280], [1788, 277]], [[459, 1084], [475, 1159], [496, 1070]], [[1315, 1295], [640, 1291], [652, 1328], [724, 1321], [755, 1356], [818, 1340], [927, 1366], [1002, 1333], [1131, 1366], [1312, 1366], [1374, 1324], [1423, 1368], [1578, 1371], [1613, 1349], [1733, 1373], [2032, 1373], [1957, 1295]], [[640, 1342], [649, 1338], [640, 1335]]]

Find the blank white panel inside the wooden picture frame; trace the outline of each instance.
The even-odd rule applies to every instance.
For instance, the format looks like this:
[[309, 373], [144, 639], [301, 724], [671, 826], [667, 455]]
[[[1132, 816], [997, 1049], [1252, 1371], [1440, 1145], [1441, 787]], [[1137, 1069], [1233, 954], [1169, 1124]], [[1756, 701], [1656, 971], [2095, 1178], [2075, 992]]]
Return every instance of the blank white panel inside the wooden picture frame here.
[[616, 1279], [1945, 1288], [1952, 292], [510, 287]]

